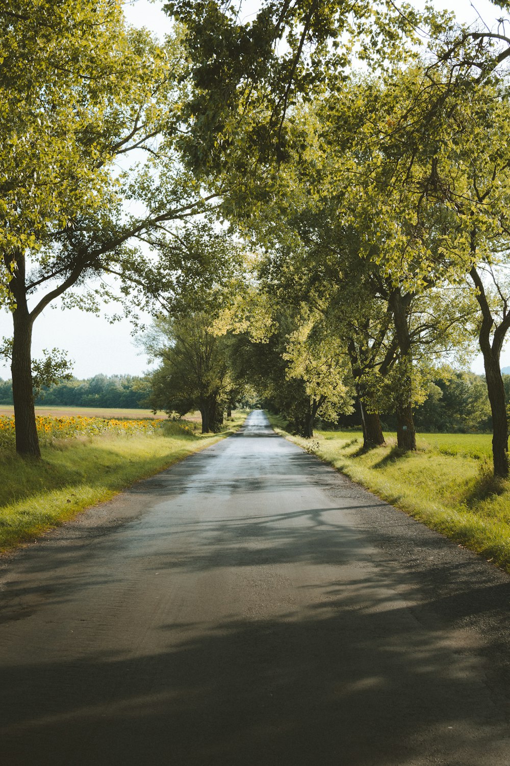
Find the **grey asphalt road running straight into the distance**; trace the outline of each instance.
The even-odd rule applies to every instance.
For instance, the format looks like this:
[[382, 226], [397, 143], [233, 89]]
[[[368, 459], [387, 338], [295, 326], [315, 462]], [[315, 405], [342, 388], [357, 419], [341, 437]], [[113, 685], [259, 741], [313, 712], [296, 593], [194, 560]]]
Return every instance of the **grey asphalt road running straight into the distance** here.
[[3, 562], [2, 766], [508, 766], [510, 578], [244, 430]]

